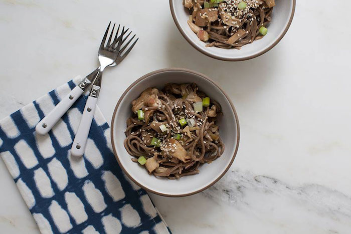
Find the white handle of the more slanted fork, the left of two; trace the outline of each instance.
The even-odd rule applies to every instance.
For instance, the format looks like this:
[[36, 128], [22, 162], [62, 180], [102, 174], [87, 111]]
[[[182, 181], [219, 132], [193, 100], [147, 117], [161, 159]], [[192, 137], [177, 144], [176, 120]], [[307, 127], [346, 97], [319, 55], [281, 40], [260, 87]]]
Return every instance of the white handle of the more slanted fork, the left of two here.
[[59, 119], [68, 111], [68, 109], [77, 101], [77, 99], [83, 94], [83, 90], [78, 86], [74, 87], [71, 92], [64, 97], [50, 113], [45, 116], [35, 127], [36, 132], [39, 135], [48, 133], [59, 121]]

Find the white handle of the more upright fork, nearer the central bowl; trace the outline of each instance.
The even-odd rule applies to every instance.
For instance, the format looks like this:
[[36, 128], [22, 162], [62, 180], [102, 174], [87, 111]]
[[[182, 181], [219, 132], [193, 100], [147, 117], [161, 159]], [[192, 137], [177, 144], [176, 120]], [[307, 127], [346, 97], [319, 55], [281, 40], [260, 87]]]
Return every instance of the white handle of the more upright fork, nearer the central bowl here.
[[74, 138], [71, 155], [75, 157], [81, 157], [84, 154], [85, 146], [87, 144], [88, 135], [93, 121], [95, 109], [96, 109], [97, 98], [88, 97], [87, 103], [85, 104], [82, 119], [80, 121], [77, 134]]

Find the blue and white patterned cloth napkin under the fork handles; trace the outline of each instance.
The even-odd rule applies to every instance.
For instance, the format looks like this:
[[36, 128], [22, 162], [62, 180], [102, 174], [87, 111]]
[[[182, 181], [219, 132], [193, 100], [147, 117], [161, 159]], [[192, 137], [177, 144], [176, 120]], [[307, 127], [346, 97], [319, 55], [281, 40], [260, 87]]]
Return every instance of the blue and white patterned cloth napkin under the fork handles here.
[[0, 121], [0, 155], [42, 233], [170, 233], [147, 193], [122, 172], [96, 109], [83, 158], [70, 155], [86, 96], [45, 136], [36, 124], [76, 77]]

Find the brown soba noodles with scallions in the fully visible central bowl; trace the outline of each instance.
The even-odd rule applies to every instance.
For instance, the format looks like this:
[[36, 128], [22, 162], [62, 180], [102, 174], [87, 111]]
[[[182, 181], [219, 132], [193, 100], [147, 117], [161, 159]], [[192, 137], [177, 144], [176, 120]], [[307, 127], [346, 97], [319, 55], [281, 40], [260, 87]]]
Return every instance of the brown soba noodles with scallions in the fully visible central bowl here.
[[196, 84], [166, 84], [162, 91], [148, 88], [132, 102], [132, 112], [124, 147], [132, 161], [155, 176], [177, 179], [197, 174], [201, 164], [223, 154], [221, 106]]

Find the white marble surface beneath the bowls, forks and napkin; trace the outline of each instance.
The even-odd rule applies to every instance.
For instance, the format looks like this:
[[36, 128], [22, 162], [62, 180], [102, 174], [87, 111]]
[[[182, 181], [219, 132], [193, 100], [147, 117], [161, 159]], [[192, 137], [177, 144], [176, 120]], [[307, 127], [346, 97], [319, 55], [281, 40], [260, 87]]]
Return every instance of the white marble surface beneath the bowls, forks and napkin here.
[[[108, 121], [134, 80], [166, 67], [212, 77], [239, 114], [239, 152], [216, 185], [184, 198], [150, 194], [174, 233], [349, 233], [350, 8], [344, 0], [297, 1], [274, 49], [221, 62], [182, 38], [166, 0], [0, 0], [0, 118], [91, 72], [108, 21], [117, 21], [140, 40], [120, 67], [106, 70], [99, 106]], [[0, 161], [0, 229], [37, 233]]]

